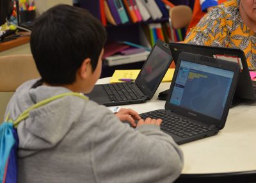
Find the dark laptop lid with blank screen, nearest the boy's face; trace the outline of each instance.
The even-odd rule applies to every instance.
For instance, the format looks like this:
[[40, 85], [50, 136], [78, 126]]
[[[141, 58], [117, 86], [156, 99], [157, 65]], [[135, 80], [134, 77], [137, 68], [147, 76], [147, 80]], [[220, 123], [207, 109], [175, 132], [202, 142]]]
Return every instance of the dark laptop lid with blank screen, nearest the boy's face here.
[[169, 45], [157, 40], [135, 80], [140, 90], [151, 99], [172, 63]]

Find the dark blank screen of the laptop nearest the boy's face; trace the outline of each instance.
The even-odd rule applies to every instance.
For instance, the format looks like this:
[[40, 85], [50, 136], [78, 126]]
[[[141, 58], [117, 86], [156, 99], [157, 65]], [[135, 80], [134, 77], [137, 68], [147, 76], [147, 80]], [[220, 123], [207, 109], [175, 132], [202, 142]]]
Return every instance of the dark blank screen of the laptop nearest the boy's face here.
[[156, 83], [161, 82], [159, 80], [162, 80], [162, 76], [165, 74], [164, 70], [166, 70], [166, 67], [169, 67], [171, 59], [172, 55], [157, 45], [150, 56], [148, 56], [148, 60], [138, 77], [151, 92], [156, 89]]

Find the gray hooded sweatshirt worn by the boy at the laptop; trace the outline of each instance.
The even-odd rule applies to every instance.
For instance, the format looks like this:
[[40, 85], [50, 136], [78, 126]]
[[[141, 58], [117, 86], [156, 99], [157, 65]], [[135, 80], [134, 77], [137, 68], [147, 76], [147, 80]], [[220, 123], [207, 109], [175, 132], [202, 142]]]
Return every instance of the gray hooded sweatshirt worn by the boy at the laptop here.
[[[15, 119], [25, 109], [67, 88], [17, 89], [6, 109]], [[156, 125], [136, 129], [105, 106], [66, 96], [34, 109], [19, 123], [18, 182], [173, 182], [182, 152]]]

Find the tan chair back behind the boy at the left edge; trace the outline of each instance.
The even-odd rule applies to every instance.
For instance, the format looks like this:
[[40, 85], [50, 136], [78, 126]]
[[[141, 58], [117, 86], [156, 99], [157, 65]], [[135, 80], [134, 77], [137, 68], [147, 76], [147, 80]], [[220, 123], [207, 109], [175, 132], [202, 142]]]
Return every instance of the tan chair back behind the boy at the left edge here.
[[0, 123], [6, 105], [20, 84], [40, 77], [31, 54], [0, 57]]

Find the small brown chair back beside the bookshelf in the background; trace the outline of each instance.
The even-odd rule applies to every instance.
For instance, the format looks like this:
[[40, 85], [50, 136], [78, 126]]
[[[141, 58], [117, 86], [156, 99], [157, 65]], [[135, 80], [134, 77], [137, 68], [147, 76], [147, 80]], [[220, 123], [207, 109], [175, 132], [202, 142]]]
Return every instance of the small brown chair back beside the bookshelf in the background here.
[[174, 29], [187, 28], [192, 18], [192, 10], [186, 5], [177, 5], [170, 8], [170, 22]]

